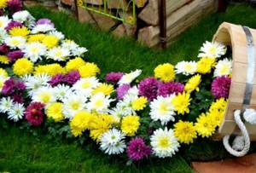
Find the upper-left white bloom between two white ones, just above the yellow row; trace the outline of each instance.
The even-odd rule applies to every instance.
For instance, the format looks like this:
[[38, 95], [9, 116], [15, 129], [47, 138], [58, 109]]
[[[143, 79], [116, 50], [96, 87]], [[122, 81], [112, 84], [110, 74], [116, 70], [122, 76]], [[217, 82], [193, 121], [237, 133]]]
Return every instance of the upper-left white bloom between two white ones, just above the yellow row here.
[[52, 59], [54, 61], [66, 61], [69, 55], [70, 54], [67, 49], [55, 47], [53, 49], [49, 49], [47, 58]]

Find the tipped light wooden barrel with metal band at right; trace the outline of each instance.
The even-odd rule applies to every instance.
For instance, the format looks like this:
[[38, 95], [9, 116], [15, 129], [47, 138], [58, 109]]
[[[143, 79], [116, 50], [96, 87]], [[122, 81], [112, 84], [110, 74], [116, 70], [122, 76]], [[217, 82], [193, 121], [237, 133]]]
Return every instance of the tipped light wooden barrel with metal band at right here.
[[[218, 27], [212, 41], [230, 45], [233, 59], [229, 101], [218, 135], [239, 134], [234, 111], [245, 107], [256, 109], [256, 73], [253, 66], [253, 62], [256, 62], [256, 30], [224, 22]], [[251, 84], [248, 84], [250, 79]], [[250, 88], [252, 95], [248, 97]], [[246, 123], [246, 126], [251, 141], [256, 141], [256, 125]]]

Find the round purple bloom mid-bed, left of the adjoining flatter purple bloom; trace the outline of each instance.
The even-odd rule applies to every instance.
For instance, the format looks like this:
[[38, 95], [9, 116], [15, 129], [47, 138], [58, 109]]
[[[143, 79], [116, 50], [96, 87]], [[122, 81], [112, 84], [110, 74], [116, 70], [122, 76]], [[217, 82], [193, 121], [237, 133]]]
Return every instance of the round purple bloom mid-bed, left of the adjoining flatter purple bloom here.
[[157, 97], [160, 82], [154, 78], [144, 78], [139, 84], [139, 95], [147, 97], [149, 101], [153, 101]]

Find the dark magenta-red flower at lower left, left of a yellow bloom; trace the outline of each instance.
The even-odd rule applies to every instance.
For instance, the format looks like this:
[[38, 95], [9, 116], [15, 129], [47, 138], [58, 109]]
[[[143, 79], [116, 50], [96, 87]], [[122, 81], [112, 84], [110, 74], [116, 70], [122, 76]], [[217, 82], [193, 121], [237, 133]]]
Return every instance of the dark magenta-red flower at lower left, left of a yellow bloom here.
[[44, 121], [44, 104], [41, 102], [32, 102], [26, 107], [26, 120], [34, 126], [38, 126]]

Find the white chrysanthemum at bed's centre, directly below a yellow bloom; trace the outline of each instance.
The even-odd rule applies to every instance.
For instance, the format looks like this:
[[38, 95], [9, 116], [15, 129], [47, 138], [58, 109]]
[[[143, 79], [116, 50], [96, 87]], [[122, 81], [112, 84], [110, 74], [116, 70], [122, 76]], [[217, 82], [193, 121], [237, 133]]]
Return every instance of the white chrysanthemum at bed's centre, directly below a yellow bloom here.
[[105, 96], [103, 93], [98, 93], [90, 98], [88, 110], [101, 113], [108, 112], [108, 107], [111, 101], [113, 100], [109, 99], [109, 95]]

